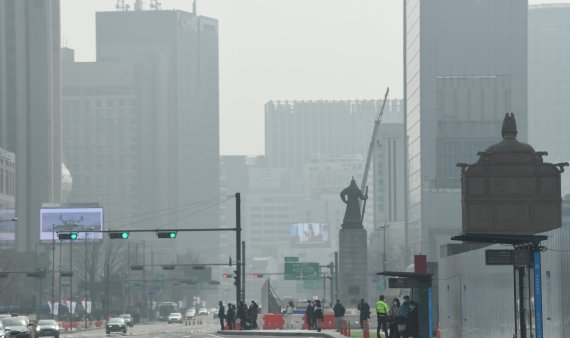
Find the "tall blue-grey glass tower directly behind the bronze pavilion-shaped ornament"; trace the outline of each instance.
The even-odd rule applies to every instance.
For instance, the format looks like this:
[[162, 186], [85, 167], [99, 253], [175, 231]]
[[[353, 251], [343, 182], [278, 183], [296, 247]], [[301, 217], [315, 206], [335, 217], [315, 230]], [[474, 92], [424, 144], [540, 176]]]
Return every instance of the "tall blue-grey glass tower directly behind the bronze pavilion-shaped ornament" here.
[[406, 0], [407, 245], [436, 260], [461, 229], [458, 162], [514, 112], [527, 139], [527, 1]]

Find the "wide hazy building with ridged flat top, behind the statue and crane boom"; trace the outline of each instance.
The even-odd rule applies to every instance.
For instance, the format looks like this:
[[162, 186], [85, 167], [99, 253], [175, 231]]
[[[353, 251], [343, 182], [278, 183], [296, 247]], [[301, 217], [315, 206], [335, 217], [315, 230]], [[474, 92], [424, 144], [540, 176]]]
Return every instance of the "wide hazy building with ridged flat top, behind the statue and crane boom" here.
[[[265, 155], [270, 166], [302, 173], [318, 156], [361, 154], [366, 158], [382, 100], [270, 101], [265, 105]], [[385, 114], [401, 111], [390, 100]], [[347, 177], [350, 182], [350, 177]]]

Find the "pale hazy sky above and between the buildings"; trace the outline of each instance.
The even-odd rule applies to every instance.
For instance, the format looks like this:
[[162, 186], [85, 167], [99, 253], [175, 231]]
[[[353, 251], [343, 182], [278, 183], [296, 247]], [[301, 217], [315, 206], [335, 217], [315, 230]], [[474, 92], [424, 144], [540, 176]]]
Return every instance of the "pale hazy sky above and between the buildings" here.
[[[531, 4], [560, 1], [529, 1]], [[95, 12], [116, 0], [61, 0], [62, 44], [95, 61]], [[125, 0], [132, 4], [134, 0]], [[145, 0], [148, 9], [150, 0]], [[192, 0], [162, 0], [192, 10]], [[402, 97], [401, 0], [198, 0], [218, 19], [220, 151], [264, 153], [269, 100]], [[371, 121], [371, 126], [372, 126]]]

